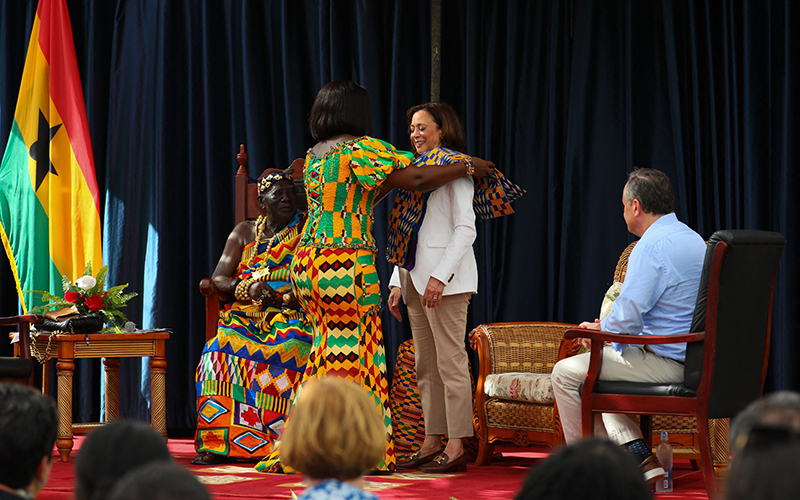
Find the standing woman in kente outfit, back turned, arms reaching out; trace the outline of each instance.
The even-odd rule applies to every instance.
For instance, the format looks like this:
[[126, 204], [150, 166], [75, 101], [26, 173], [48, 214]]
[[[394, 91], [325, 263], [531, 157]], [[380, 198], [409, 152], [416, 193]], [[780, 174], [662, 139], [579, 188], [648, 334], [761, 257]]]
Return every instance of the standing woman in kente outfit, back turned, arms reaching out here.
[[[469, 174], [486, 175], [493, 164], [465, 157], [439, 168], [410, 166], [413, 155], [366, 135], [371, 115], [369, 94], [350, 80], [331, 82], [317, 94], [309, 127], [319, 142], [306, 154], [308, 221], [292, 262], [292, 284], [314, 329], [304, 380], [333, 375], [364, 388], [386, 426], [386, 453], [378, 470], [393, 471], [373, 203], [392, 187], [436, 189]], [[256, 469], [284, 470], [279, 450]]]

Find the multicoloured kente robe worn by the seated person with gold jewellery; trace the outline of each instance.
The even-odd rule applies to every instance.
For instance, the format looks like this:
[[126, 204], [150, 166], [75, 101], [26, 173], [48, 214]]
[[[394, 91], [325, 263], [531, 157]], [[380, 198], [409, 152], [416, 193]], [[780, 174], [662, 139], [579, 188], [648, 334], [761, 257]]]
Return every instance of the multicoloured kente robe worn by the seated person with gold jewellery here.
[[[269, 265], [270, 286], [288, 290], [302, 219], [296, 217], [290, 226], [273, 243], [268, 259], [267, 242], [258, 248], [247, 245], [236, 276], [247, 277]], [[302, 379], [311, 335], [311, 325], [300, 311], [258, 308], [251, 301], [223, 307], [217, 335], [206, 344], [197, 366], [198, 452], [259, 458], [272, 450]]]

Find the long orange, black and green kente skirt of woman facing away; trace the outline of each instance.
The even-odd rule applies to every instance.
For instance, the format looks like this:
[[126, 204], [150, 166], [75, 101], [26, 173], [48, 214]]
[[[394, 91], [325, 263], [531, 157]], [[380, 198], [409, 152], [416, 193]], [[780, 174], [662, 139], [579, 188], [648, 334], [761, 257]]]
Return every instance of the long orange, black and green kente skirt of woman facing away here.
[[[314, 328], [304, 380], [342, 377], [359, 383], [372, 396], [386, 426], [386, 454], [378, 468], [393, 471], [392, 413], [375, 254], [363, 249], [300, 247], [292, 263], [292, 278]], [[292, 425], [291, 416], [287, 425]], [[256, 469], [285, 469], [279, 460], [276, 450]]]

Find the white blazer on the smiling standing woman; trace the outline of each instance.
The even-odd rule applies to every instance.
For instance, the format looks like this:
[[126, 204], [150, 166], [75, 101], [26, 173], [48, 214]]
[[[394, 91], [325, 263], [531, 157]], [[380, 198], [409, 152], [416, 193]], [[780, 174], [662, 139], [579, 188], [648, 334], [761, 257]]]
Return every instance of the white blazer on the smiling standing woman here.
[[477, 235], [474, 196], [472, 177], [457, 179], [431, 193], [419, 228], [414, 269], [401, 277], [395, 266], [389, 280], [389, 286], [403, 288], [403, 301], [406, 276], [420, 295], [425, 293], [431, 276], [445, 284], [443, 295], [478, 291], [478, 265], [472, 250]]

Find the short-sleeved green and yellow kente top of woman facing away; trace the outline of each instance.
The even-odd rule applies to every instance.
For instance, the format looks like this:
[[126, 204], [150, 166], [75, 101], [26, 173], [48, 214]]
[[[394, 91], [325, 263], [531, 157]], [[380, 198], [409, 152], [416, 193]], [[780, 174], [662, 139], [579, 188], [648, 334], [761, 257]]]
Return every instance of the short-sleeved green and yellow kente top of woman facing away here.
[[343, 142], [321, 157], [309, 149], [303, 171], [308, 224], [300, 245], [377, 251], [372, 237], [376, 188], [411, 160], [411, 153], [367, 136]]

